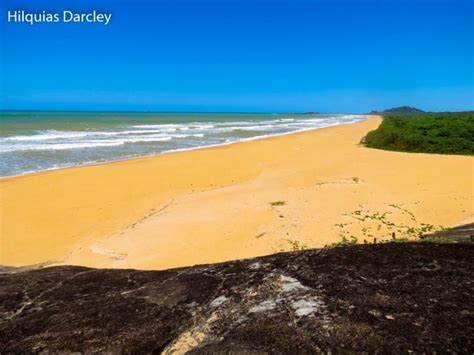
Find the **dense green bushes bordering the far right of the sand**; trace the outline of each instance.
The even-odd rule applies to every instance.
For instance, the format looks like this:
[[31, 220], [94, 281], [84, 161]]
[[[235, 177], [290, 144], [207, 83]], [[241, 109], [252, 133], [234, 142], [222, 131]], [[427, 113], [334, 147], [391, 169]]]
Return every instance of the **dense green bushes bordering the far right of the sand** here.
[[474, 111], [388, 114], [366, 145], [385, 150], [474, 155]]

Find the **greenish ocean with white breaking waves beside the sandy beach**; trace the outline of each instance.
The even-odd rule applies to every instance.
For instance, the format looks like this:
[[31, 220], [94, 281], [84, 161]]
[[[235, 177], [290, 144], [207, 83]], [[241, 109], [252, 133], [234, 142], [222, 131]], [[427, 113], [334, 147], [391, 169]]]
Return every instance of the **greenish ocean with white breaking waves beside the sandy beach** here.
[[346, 114], [0, 111], [0, 176], [229, 144], [365, 118]]

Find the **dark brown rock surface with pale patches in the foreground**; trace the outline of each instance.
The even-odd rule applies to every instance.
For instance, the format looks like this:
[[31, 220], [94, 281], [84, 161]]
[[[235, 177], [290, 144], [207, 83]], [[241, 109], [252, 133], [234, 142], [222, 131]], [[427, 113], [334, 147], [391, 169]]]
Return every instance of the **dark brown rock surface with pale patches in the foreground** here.
[[473, 353], [472, 244], [165, 271], [3, 268], [0, 353]]

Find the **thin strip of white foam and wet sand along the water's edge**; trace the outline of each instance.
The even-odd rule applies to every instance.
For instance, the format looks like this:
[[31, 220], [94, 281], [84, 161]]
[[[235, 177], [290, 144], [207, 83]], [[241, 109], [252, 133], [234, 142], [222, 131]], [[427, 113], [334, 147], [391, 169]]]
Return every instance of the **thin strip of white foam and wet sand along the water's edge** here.
[[275, 133], [275, 134], [267, 134], [267, 135], [255, 136], [255, 137], [250, 137], [250, 138], [242, 138], [240, 140], [233, 141], [233, 142], [227, 142], [227, 143], [204, 145], [204, 146], [198, 146], [198, 147], [193, 147], [193, 148], [172, 149], [172, 150], [165, 150], [165, 151], [159, 152], [159, 153], [152, 153], [152, 154], [142, 155], [142, 156], [137, 156], [137, 157], [120, 158], [120, 159], [107, 160], [107, 161], [101, 161], [101, 162], [92, 161], [92, 162], [86, 162], [86, 163], [79, 164], [79, 165], [64, 166], [64, 167], [59, 167], [59, 168], [50, 168], [50, 169], [39, 170], [39, 171], [27, 171], [27, 172], [24, 172], [22, 174], [17, 174], [17, 175], [0, 176], [0, 181], [7, 180], [7, 179], [19, 178], [19, 177], [23, 177], [23, 176], [42, 174], [42, 173], [47, 173], [47, 172], [50, 172], [50, 171], [57, 171], [57, 170], [64, 170], [64, 169], [75, 169], [75, 168], [82, 168], [82, 167], [89, 167], [89, 166], [96, 166], [96, 165], [104, 165], [104, 164], [113, 164], [113, 163], [120, 163], [120, 162], [124, 162], [124, 161], [129, 161], [129, 160], [153, 158], [153, 157], [161, 156], [161, 155], [164, 155], [164, 154], [183, 153], [183, 152], [190, 152], [190, 151], [201, 150], [201, 149], [219, 148], [219, 147], [224, 147], [224, 146], [229, 146], [229, 145], [234, 145], [234, 144], [239, 144], [239, 143], [257, 141], [257, 140], [261, 140], [261, 139], [270, 139], [270, 138], [274, 138], [274, 137], [287, 136], [287, 135], [291, 135], [291, 134], [303, 133], [303, 132], [308, 132], [308, 131], [316, 131], [316, 130], [331, 128], [331, 127], [336, 127], [336, 126], [350, 125], [350, 124], [354, 124], [354, 123], [357, 123], [357, 122], [368, 120], [373, 115], [360, 115], [360, 116], [365, 116], [365, 118], [362, 118], [362, 119], [354, 121], [354, 122], [336, 123], [336, 124], [332, 124], [332, 125], [324, 126], [324, 127], [304, 128], [304, 129], [300, 129], [300, 130], [292, 131], [292, 132]]

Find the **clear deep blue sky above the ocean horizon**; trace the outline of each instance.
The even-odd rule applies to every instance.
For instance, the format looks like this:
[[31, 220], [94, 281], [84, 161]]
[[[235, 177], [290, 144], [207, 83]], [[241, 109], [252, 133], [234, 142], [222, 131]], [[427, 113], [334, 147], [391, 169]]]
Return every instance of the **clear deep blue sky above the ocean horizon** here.
[[[2, 0], [0, 107], [474, 109], [474, 0]], [[15, 24], [7, 10], [112, 12]]]

